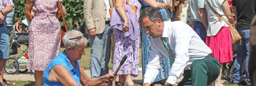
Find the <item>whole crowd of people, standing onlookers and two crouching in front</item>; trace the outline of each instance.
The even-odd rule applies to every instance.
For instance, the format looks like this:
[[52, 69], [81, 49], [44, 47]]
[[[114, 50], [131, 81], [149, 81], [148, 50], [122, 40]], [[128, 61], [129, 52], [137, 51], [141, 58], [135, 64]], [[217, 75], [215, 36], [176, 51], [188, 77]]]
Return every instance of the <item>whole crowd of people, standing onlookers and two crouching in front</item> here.
[[[73, 30], [61, 38], [65, 27], [59, 18], [67, 14], [62, 0], [26, 0], [27, 68], [35, 70], [35, 86], [105, 86], [116, 76], [117, 86], [136, 86], [132, 77], [139, 75], [141, 52], [143, 86], [173, 86], [181, 75], [184, 77], [178, 86], [225, 86], [221, 82], [222, 67], [233, 61], [233, 83], [256, 86], [255, 73], [249, 72], [249, 67], [255, 68], [250, 65], [254, 58], [250, 50], [255, 44], [249, 43], [255, 41], [250, 40], [250, 33], [254, 33], [250, 28], [256, 0], [232, 0], [233, 8], [229, 1], [84, 0], [84, 24], [74, 24]], [[0, 86], [15, 85], [3, 77], [13, 30], [21, 32], [20, 19], [13, 23], [13, 14], [13, 0], [1, 0]], [[230, 24], [236, 24], [242, 37], [235, 45], [235, 60]], [[90, 78], [78, 61], [89, 52], [84, 50], [87, 38], [91, 47]], [[59, 53], [61, 39], [65, 50]], [[118, 69], [124, 55], [127, 60]], [[110, 60], [112, 73], [108, 73]], [[242, 78], [244, 61], [246, 81]]]

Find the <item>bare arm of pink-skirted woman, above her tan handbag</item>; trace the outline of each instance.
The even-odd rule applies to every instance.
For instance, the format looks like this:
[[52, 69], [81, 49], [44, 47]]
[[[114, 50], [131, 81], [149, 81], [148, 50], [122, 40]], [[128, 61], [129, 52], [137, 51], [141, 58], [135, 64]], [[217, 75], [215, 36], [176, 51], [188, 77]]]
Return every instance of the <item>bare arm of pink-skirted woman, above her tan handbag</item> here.
[[224, 2], [223, 2], [223, 4], [222, 4], [222, 8], [223, 8], [223, 10], [224, 10], [224, 13], [225, 13], [226, 17], [227, 17], [228, 20], [229, 20], [229, 23], [235, 24], [234, 19], [233, 19], [233, 15], [232, 15], [232, 13], [231, 13], [231, 11], [230, 11], [229, 3], [228, 3], [227, 0], [224, 0]]

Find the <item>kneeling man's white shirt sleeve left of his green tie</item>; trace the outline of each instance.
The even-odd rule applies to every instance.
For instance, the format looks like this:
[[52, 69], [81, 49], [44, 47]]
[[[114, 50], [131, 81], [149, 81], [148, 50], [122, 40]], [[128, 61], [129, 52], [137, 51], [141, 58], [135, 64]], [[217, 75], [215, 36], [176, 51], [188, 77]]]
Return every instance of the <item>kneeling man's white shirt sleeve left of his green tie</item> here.
[[160, 53], [154, 46], [154, 43], [151, 41], [151, 52], [150, 52], [149, 62], [147, 65], [146, 73], [143, 77], [144, 83], [152, 84], [159, 73], [161, 68], [161, 60], [163, 58], [162, 53]]

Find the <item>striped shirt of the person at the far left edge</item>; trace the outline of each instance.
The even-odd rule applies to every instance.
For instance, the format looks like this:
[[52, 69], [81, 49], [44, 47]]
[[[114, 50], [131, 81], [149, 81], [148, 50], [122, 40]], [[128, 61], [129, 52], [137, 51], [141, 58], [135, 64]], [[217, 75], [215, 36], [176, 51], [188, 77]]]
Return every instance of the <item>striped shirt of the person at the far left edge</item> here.
[[[3, 10], [7, 6], [13, 6], [13, 0], [0, 0], [0, 10]], [[5, 18], [7, 15], [4, 15]], [[4, 24], [5, 20], [0, 20], [0, 24]]]

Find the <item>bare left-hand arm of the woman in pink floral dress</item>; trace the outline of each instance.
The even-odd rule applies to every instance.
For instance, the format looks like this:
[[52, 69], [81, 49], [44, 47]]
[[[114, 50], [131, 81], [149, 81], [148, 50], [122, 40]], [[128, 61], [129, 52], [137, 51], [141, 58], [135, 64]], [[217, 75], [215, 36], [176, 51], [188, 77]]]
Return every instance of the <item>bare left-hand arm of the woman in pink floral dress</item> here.
[[27, 17], [27, 20], [29, 22], [32, 21], [33, 19], [33, 16], [31, 14], [31, 10], [32, 10], [32, 7], [33, 7], [33, 1], [31, 0], [26, 0], [26, 5], [25, 5], [25, 16]]

